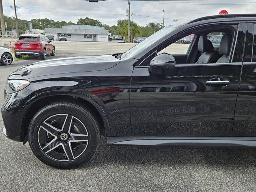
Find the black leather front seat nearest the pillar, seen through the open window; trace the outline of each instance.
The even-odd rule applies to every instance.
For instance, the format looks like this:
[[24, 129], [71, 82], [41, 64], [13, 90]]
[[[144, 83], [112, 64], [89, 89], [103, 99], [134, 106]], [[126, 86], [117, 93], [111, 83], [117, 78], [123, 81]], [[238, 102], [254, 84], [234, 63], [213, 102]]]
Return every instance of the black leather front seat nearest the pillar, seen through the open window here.
[[231, 43], [232, 36], [230, 34], [224, 34], [220, 41], [220, 54], [223, 54], [223, 56], [218, 59], [217, 63], [228, 62]]

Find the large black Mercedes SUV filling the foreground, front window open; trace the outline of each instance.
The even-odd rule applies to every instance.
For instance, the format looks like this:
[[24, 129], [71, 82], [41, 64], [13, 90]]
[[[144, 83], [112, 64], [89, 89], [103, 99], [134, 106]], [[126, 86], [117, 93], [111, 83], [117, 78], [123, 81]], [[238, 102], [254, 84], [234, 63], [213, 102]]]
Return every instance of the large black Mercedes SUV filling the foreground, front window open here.
[[[219, 51], [212, 32], [224, 34]], [[172, 45], [191, 34], [185, 51]], [[199, 18], [125, 53], [27, 65], [4, 98], [4, 134], [58, 168], [88, 161], [101, 135], [112, 145], [255, 147], [256, 16]]]

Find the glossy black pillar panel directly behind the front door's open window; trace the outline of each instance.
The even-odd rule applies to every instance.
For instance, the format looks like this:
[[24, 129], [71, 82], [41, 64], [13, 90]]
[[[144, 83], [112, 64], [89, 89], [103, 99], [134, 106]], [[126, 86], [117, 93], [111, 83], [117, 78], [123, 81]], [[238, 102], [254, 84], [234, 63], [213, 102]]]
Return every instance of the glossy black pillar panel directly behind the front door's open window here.
[[238, 36], [236, 40], [236, 48], [234, 51], [234, 57], [232, 62], [242, 62], [244, 52], [245, 28], [245, 23], [240, 23], [238, 25]]

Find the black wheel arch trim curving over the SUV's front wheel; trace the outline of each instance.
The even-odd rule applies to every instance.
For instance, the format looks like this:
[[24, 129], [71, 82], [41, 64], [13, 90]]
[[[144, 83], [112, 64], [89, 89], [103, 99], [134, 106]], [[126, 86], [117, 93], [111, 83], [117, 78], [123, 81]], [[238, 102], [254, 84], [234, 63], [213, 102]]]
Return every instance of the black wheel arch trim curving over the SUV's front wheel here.
[[28, 140], [28, 126], [34, 114], [36, 114], [36, 112], [43, 106], [58, 100], [68, 100], [69, 102], [71, 100], [89, 108], [96, 115], [97, 120], [100, 124], [100, 134], [103, 135], [105, 138], [111, 135], [110, 125], [106, 112], [97, 101], [95, 101], [86, 94], [80, 94], [78, 92], [69, 91], [64, 93], [51, 91], [50, 94], [47, 92], [44, 94], [37, 94], [34, 98], [28, 100], [24, 105], [26, 106], [26, 108], [23, 109], [25, 115], [22, 120], [22, 126], [20, 129], [21, 141], [26, 143]]

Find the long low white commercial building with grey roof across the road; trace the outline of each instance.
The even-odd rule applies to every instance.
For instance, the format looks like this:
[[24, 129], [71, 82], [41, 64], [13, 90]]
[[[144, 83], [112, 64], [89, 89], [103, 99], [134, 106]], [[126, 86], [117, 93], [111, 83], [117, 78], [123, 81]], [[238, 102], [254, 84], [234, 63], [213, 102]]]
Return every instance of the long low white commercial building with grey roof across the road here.
[[62, 28], [45, 28], [45, 35], [53, 35], [58, 40], [60, 35], [66, 35], [67, 41], [108, 42], [108, 30], [104, 27], [90, 25], [66, 25]]

